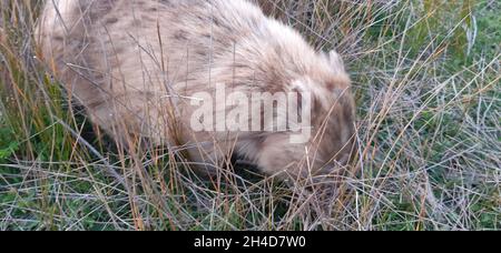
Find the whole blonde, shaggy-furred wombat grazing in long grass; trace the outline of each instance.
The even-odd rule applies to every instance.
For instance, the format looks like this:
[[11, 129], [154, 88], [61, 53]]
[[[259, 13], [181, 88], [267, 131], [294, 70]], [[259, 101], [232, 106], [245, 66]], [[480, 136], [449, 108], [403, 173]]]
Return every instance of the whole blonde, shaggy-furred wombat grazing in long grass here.
[[177, 146], [208, 173], [236, 152], [284, 180], [328, 174], [352, 153], [338, 54], [248, 1], [50, 0], [36, 36], [70, 99], [120, 143]]

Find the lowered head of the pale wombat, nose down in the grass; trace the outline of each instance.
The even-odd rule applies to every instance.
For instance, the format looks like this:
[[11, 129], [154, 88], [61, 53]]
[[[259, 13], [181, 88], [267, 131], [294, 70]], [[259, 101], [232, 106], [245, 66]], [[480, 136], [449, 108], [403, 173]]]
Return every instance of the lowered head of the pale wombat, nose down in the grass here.
[[287, 180], [323, 176], [346, 165], [356, 152], [355, 103], [343, 61], [336, 52], [316, 61], [291, 84], [298, 93], [302, 130], [293, 130], [294, 111], [288, 111], [288, 131], [268, 134], [259, 146], [258, 163], [267, 173], [283, 173]]

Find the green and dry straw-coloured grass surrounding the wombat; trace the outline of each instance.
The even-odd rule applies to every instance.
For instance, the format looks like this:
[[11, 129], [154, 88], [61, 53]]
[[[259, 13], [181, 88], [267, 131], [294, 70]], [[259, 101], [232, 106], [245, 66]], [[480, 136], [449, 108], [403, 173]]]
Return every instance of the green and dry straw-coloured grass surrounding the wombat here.
[[[0, 230], [500, 230], [501, 6], [259, 1], [345, 57], [360, 153], [328, 212], [173, 150], [124, 152], [37, 59], [41, 1], [0, 2]], [[315, 213], [313, 215], [312, 213]]]

